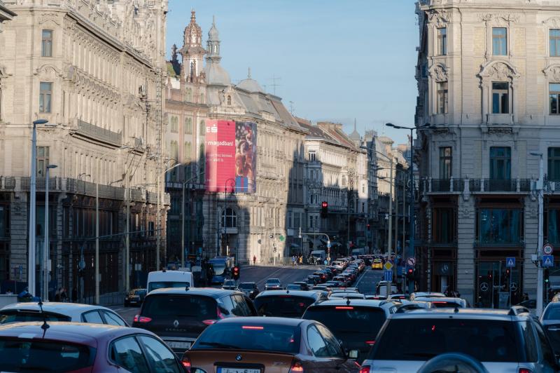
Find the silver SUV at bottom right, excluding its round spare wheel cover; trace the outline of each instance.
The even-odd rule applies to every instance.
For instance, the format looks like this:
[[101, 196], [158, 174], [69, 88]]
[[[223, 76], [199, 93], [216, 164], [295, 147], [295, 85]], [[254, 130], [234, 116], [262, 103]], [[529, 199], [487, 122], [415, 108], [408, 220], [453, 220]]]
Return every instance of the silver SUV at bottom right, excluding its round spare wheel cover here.
[[399, 309], [381, 328], [362, 373], [416, 372], [442, 353], [465, 353], [488, 372], [556, 372], [558, 361], [527, 308]]

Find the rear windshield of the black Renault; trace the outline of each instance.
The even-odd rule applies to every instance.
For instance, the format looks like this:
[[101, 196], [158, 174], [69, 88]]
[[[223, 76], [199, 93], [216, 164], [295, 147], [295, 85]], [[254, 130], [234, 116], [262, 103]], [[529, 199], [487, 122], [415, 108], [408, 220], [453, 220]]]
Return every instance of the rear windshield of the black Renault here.
[[155, 295], [148, 296], [142, 307], [142, 315], [158, 318], [194, 318], [197, 320], [216, 319], [216, 300], [197, 295]]

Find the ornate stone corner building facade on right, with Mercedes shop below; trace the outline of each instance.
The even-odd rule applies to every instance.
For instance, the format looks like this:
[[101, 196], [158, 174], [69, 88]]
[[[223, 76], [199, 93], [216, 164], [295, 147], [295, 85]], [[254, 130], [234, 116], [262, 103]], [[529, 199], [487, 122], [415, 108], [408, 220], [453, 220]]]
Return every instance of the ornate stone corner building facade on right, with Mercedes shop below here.
[[[535, 297], [545, 162], [545, 241], [559, 243], [560, 1], [423, 0], [416, 67], [420, 128], [416, 247], [421, 285], [471, 303]], [[515, 258], [511, 280], [505, 266]], [[551, 269], [552, 273], [556, 267]]]

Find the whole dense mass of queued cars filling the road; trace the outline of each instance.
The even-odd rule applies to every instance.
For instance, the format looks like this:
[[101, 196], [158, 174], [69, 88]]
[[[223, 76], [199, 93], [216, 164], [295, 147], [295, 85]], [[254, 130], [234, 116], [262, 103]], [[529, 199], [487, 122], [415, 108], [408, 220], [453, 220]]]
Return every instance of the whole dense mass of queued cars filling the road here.
[[473, 308], [457, 292], [407, 292], [387, 276], [393, 262], [343, 257], [262, 288], [236, 264], [211, 287], [188, 271], [151, 272], [125, 296], [139, 307], [132, 325], [102, 306], [20, 301], [0, 309], [0, 371], [559, 371], [560, 296], [540, 318], [522, 305]]

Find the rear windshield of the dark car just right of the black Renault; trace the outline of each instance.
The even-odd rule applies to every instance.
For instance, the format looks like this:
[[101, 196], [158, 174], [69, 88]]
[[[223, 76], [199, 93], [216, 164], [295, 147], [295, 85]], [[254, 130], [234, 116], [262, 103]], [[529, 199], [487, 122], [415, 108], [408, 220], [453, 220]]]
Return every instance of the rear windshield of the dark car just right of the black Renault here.
[[314, 302], [315, 299], [311, 297], [295, 297], [285, 294], [258, 297], [255, 299], [255, 308], [261, 316], [300, 318], [307, 307]]

